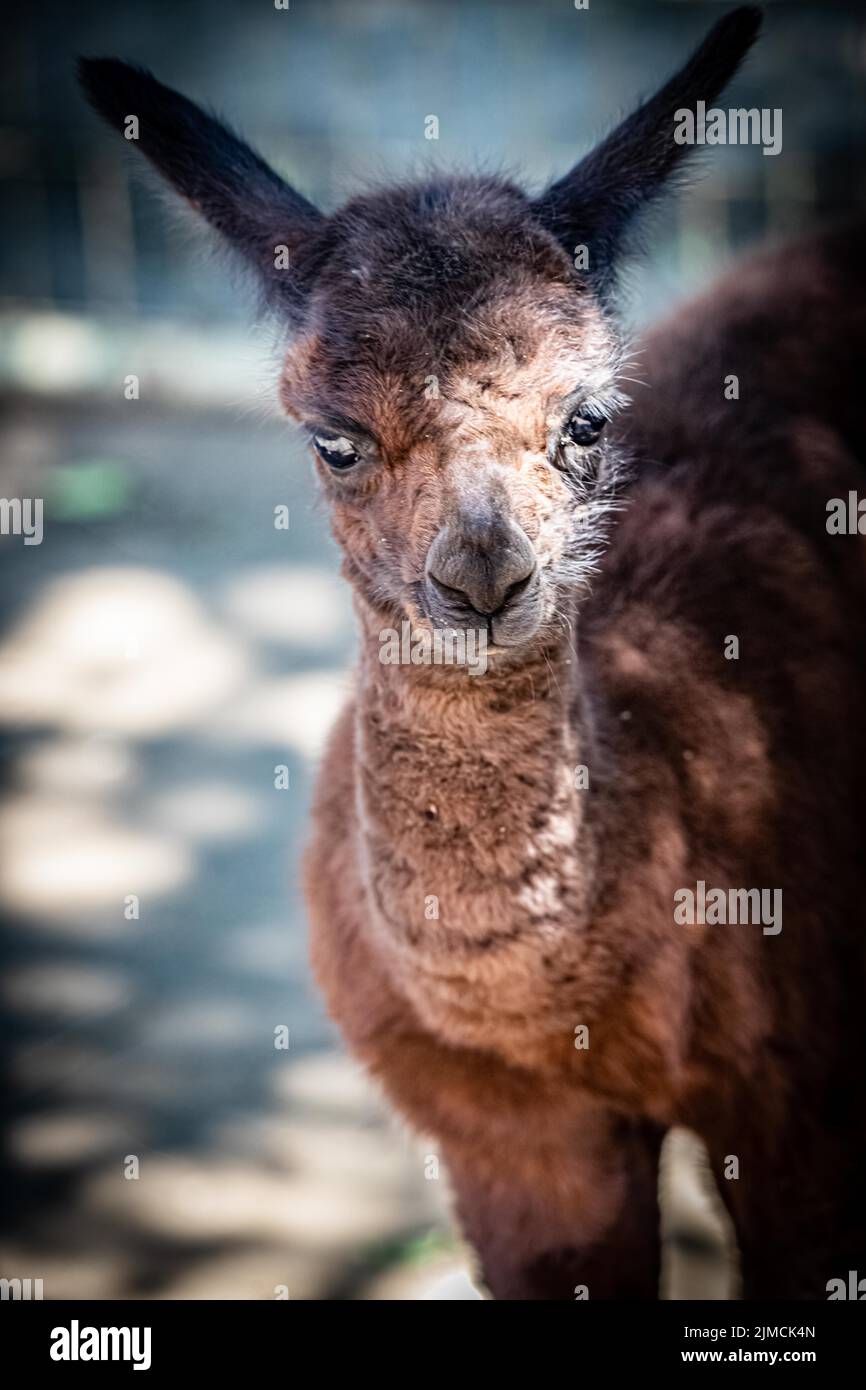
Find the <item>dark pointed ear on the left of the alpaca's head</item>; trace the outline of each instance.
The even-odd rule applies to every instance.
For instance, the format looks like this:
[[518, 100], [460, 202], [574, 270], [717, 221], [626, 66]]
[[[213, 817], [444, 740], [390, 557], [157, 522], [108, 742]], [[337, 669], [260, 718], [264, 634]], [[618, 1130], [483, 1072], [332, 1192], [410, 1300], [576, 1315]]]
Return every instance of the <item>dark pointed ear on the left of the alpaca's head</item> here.
[[90, 104], [259, 272], [271, 300], [299, 309], [322, 214], [221, 121], [143, 68], [81, 58]]

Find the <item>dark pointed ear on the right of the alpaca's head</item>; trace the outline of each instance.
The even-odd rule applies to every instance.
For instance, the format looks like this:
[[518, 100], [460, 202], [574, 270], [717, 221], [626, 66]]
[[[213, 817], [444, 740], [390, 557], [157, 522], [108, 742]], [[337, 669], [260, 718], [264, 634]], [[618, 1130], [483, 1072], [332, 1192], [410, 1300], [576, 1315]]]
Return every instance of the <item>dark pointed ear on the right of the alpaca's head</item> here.
[[733, 78], [760, 28], [744, 6], [724, 15], [660, 92], [535, 200], [535, 213], [570, 256], [588, 249], [588, 277], [603, 288], [632, 220], [664, 190], [691, 146], [674, 142], [674, 115], [713, 101]]

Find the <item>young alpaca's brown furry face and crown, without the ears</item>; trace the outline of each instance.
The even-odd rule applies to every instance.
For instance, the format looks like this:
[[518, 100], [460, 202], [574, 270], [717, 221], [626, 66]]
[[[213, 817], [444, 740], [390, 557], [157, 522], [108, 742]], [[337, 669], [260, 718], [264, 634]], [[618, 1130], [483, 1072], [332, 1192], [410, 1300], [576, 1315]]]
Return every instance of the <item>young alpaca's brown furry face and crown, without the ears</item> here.
[[607, 316], [528, 202], [453, 179], [339, 218], [281, 395], [377, 610], [520, 648], [584, 582], [623, 396]]

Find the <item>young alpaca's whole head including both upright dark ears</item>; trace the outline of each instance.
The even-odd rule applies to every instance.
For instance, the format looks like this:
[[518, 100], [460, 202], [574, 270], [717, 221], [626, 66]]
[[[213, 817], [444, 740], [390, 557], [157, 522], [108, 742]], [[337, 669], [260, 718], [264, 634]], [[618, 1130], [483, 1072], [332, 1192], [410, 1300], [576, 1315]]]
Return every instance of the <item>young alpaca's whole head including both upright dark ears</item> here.
[[610, 313], [623, 242], [759, 25], [737, 10], [542, 196], [432, 178], [325, 217], [222, 124], [154, 78], [82, 82], [256, 270], [291, 329], [279, 385], [306, 430], [345, 569], [384, 623], [482, 628], [514, 659], [557, 630], [603, 538], [624, 404]]

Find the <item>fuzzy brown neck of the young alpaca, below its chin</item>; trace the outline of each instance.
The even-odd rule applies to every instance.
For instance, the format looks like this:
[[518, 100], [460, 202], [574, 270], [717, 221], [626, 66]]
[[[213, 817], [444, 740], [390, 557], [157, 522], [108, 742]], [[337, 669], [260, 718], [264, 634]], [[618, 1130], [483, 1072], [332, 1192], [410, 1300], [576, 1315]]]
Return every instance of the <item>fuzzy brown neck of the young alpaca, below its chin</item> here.
[[475, 677], [382, 664], [379, 626], [361, 612], [359, 849], [371, 929], [424, 1023], [489, 1045], [506, 1020], [509, 1047], [525, 1048], [521, 1026], [563, 1026], [555, 986], [578, 969], [591, 897], [577, 663], [563, 642], [513, 670], [493, 657]]

